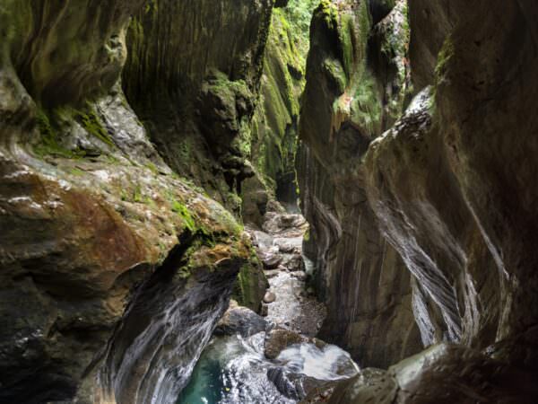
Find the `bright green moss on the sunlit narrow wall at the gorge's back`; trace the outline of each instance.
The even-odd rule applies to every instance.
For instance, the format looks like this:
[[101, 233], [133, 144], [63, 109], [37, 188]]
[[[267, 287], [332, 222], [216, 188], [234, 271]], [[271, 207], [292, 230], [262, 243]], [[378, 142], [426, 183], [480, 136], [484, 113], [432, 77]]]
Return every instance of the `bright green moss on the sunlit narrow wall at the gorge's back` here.
[[273, 10], [261, 97], [249, 134], [251, 161], [269, 191], [276, 189], [281, 175], [294, 170], [299, 97], [305, 85], [309, 25], [317, 3], [290, 0], [285, 8]]

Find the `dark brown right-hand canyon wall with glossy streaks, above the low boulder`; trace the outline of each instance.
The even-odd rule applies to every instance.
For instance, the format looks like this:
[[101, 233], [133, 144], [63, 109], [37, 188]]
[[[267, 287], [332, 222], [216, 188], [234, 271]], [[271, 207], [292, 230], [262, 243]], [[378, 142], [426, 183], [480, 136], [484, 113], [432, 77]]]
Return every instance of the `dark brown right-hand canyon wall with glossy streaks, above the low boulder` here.
[[[450, 13], [442, 2], [426, 12], [421, 2], [410, 6], [416, 23], [426, 13], [454, 28], [438, 54], [433, 95], [424, 90], [370, 145], [369, 199], [421, 285], [415, 303], [428, 307], [417, 316], [425, 341], [487, 347], [526, 332], [536, 318], [526, 233], [534, 228], [536, 122], [523, 119], [534, 83], [517, 90], [515, 78], [535, 67], [533, 8], [514, 4], [482, 20], [485, 3], [464, 16], [464, 4], [451, 4]], [[416, 58], [438, 51], [438, 40], [416, 35]], [[417, 83], [431, 83], [426, 67], [415, 72]]]

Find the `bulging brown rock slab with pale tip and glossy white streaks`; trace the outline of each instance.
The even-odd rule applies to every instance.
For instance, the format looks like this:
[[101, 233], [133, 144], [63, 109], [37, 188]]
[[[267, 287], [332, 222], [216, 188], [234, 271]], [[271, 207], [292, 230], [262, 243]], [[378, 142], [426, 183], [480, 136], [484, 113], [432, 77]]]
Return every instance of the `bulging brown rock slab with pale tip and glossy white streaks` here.
[[489, 270], [495, 263], [447, 166], [433, 108], [426, 88], [370, 145], [369, 198], [418, 281], [413, 310], [424, 344], [480, 340], [484, 347], [497, 333], [499, 273]]

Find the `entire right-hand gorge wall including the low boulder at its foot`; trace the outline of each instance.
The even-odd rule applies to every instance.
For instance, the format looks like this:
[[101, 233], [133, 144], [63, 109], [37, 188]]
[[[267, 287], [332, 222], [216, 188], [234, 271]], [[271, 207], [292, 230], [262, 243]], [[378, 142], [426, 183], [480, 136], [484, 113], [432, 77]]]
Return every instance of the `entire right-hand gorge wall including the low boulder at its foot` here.
[[538, 8], [411, 0], [409, 15], [417, 96], [362, 170], [424, 343], [454, 344], [363, 370], [329, 402], [535, 402]]

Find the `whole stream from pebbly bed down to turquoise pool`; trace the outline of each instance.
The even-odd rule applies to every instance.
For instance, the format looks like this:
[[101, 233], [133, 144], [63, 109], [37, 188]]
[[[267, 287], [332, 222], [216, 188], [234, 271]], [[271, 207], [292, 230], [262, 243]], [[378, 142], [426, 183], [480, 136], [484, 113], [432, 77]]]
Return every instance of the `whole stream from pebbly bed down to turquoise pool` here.
[[307, 229], [301, 215], [282, 210], [269, 212], [262, 230], [246, 226], [270, 285], [266, 315], [230, 305], [231, 318], [241, 319], [241, 326], [224, 335], [215, 331], [178, 404], [297, 403], [325, 382], [358, 373], [347, 352], [314, 338], [325, 306], [305, 282]]

